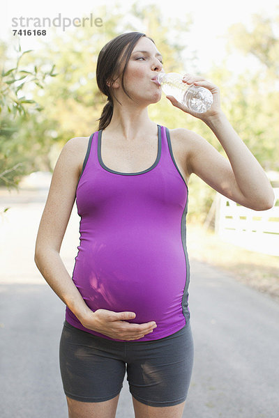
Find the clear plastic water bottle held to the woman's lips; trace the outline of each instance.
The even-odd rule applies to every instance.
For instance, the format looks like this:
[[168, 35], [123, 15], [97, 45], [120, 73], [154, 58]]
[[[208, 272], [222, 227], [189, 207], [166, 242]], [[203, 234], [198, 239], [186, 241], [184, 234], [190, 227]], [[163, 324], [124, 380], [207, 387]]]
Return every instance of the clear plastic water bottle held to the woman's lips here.
[[157, 80], [166, 95], [172, 95], [181, 104], [196, 113], [204, 113], [213, 103], [213, 95], [208, 88], [184, 83], [177, 72], [158, 72]]

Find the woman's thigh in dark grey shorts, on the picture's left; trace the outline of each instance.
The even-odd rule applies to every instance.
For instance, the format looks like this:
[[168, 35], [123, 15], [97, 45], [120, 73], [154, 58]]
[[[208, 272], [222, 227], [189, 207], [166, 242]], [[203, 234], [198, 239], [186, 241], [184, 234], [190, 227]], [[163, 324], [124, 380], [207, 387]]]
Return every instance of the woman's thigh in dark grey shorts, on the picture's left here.
[[[116, 398], [126, 373], [121, 352], [121, 346], [115, 341], [93, 336], [65, 323], [59, 360], [66, 396], [85, 404], [105, 403]], [[69, 401], [70, 405], [76, 405], [73, 401]]]

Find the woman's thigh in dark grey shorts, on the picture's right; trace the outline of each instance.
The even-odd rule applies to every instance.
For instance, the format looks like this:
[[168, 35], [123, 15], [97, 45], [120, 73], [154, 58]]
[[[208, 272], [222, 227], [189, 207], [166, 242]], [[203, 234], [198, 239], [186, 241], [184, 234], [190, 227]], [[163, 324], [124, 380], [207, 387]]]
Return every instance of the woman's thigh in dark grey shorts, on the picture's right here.
[[[181, 404], [186, 401], [193, 370], [194, 347], [190, 322], [163, 339], [129, 343], [126, 357], [130, 393], [139, 403], [152, 407], [145, 408], [133, 401], [135, 412], [149, 411], [153, 414], [151, 417], [159, 417], [159, 410], [162, 413], [165, 410], [167, 415], [162, 417], [179, 417], [172, 415], [172, 412], [177, 410], [179, 414], [179, 410], [183, 410]], [[172, 411], [174, 406], [176, 408]], [[144, 414], [139, 417], [144, 417]]]

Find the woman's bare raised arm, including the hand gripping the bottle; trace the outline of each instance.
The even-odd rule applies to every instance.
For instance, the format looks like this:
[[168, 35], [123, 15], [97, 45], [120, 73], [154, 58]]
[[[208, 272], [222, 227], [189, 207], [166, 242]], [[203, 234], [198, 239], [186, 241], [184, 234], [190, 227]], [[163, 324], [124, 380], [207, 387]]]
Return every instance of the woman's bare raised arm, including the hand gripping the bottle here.
[[229, 159], [223, 157], [216, 148], [195, 132], [179, 129], [177, 134], [187, 141], [188, 173], [197, 174], [213, 189], [243, 206], [254, 210], [272, 208], [274, 193], [271, 184], [259, 162], [220, 109], [218, 87], [201, 77], [186, 76], [184, 82], [195, 82], [197, 86], [209, 88], [213, 93], [211, 109], [204, 114], [196, 114], [183, 107], [172, 96], [168, 96], [169, 100], [186, 113], [202, 119], [216, 135]]

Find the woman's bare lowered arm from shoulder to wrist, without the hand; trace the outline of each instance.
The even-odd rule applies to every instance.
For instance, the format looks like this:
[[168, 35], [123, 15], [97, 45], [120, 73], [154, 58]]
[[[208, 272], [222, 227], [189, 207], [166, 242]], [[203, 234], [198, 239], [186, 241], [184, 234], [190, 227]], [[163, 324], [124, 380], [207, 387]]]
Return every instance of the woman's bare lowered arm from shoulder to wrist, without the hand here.
[[35, 263], [52, 290], [77, 316], [82, 318], [89, 307], [77, 290], [59, 254], [63, 236], [75, 202], [79, 177], [77, 141], [68, 141], [56, 162], [45, 209], [40, 220], [35, 248]]

